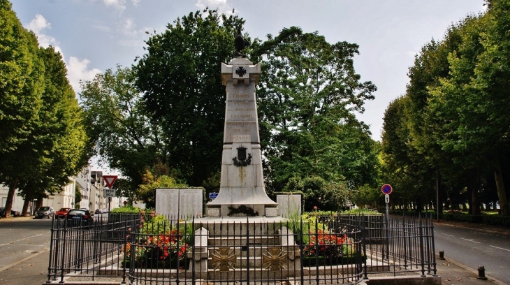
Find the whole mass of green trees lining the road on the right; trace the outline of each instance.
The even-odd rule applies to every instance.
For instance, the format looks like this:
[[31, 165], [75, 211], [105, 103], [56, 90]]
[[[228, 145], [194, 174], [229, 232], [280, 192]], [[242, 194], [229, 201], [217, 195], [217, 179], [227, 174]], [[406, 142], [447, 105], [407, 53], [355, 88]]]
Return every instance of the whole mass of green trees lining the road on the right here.
[[[503, 36], [509, 10], [507, 1], [488, 1], [486, 13], [465, 17], [449, 27], [442, 41], [425, 44], [409, 68], [405, 96], [385, 114], [382, 145], [394, 166], [389, 169], [393, 176], [414, 167], [411, 173], [421, 175], [405, 177], [420, 184], [420, 177], [432, 177], [435, 169], [440, 200], [458, 205], [467, 194], [472, 214], [480, 213], [480, 196], [490, 196], [489, 187], [497, 188], [501, 212], [509, 214], [504, 170], [509, 154], [510, 42]], [[435, 196], [435, 184], [421, 185], [428, 189], [425, 197]]]

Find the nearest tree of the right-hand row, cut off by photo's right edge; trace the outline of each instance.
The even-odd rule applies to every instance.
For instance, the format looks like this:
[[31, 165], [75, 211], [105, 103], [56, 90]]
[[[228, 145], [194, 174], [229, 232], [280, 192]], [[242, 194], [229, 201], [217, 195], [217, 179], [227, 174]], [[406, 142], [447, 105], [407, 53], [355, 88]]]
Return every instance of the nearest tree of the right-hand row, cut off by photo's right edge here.
[[[503, 182], [502, 158], [508, 163], [507, 154], [510, 147], [510, 103], [508, 90], [510, 86], [510, 3], [501, 0], [488, 0], [488, 29], [481, 34], [484, 50], [474, 68], [474, 80], [471, 84], [477, 89], [481, 98], [476, 101], [480, 107], [477, 113], [486, 114], [485, 119], [490, 128], [476, 129], [472, 133], [476, 146], [488, 147], [485, 152], [491, 168], [494, 170], [497, 196], [500, 200], [502, 214], [510, 214], [510, 205]], [[476, 118], [470, 118], [475, 120]], [[473, 127], [473, 124], [469, 124]], [[473, 129], [473, 128], [470, 128]]]

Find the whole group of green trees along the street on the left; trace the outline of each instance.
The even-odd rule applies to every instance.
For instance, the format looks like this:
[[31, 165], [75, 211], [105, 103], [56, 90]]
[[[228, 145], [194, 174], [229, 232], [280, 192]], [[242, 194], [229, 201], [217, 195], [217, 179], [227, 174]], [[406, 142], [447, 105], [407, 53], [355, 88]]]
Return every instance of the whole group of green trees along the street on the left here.
[[18, 188], [26, 214], [31, 199], [61, 191], [85, 166], [87, 137], [61, 55], [38, 47], [6, 0], [0, 1], [0, 71], [0, 182], [9, 187], [6, 213]]

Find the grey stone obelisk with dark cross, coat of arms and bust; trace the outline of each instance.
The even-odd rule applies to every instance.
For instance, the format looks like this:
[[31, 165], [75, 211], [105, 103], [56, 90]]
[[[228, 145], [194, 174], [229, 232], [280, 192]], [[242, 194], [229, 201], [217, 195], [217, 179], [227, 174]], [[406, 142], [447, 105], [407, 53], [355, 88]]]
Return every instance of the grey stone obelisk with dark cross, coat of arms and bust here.
[[255, 85], [261, 65], [236, 54], [228, 64], [221, 64], [226, 86], [221, 182], [217, 198], [207, 203], [207, 216], [274, 217], [278, 204], [265, 193], [258, 135]]

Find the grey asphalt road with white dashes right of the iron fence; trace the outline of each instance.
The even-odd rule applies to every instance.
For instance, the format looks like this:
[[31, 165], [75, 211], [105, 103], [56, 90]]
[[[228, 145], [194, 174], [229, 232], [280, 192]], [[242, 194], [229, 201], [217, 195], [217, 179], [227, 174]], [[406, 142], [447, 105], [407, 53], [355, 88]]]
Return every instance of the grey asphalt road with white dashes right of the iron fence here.
[[486, 268], [486, 275], [510, 284], [510, 236], [498, 231], [481, 231], [435, 224], [436, 252], [477, 269]]

